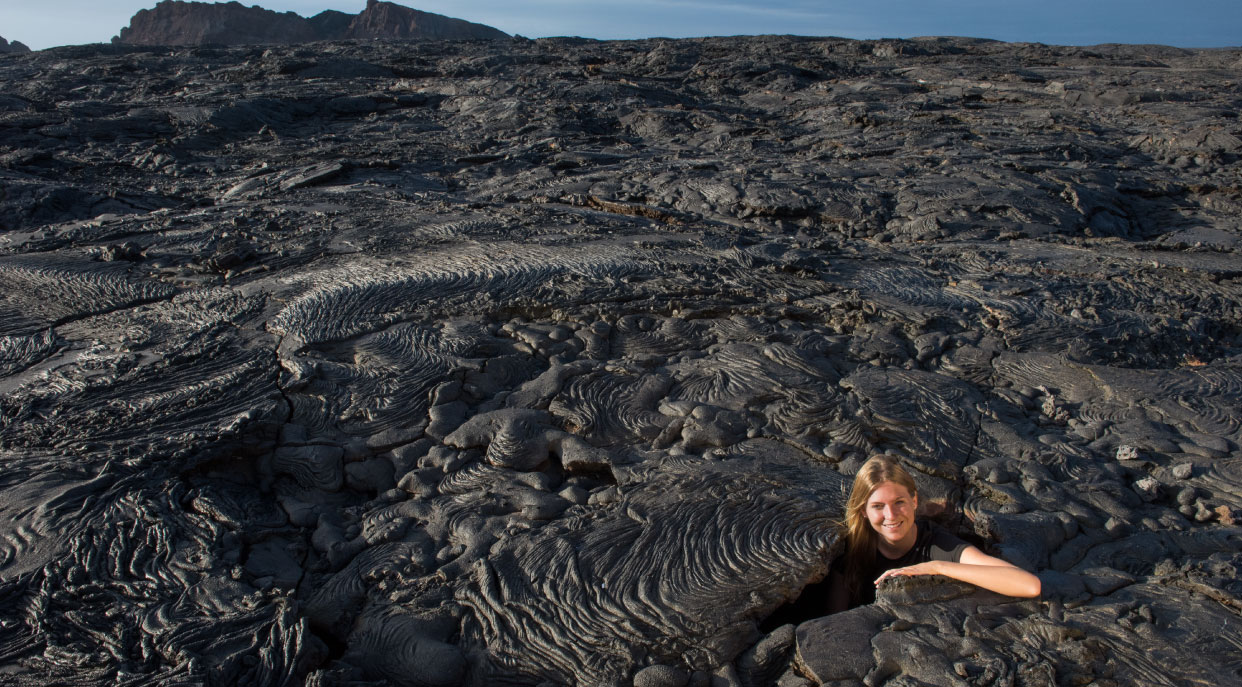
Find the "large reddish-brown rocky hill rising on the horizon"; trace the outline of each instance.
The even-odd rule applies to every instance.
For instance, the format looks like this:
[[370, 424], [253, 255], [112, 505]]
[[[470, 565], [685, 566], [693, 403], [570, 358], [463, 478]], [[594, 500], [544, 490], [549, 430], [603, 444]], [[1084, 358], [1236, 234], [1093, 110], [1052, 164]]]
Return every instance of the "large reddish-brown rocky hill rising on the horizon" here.
[[[508, 39], [509, 35], [460, 19], [368, 0], [356, 15], [327, 10], [313, 17], [276, 12], [241, 2], [163, 0], [139, 10], [112, 39], [129, 45], [301, 43], [340, 39]], [[17, 43], [20, 45], [20, 43]], [[25, 47], [25, 46], [22, 46]]]

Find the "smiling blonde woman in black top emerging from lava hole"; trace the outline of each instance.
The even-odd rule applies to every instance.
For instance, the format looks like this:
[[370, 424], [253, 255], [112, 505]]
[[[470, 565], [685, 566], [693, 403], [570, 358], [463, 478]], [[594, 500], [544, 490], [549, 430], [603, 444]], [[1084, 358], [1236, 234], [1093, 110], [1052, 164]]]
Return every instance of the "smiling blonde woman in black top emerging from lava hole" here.
[[872, 456], [862, 465], [846, 503], [843, 565], [830, 575], [830, 612], [873, 603], [881, 580], [894, 575], [945, 575], [1007, 596], [1040, 595], [1040, 578], [915, 518], [918, 504], [919, 489], [895, 460]]

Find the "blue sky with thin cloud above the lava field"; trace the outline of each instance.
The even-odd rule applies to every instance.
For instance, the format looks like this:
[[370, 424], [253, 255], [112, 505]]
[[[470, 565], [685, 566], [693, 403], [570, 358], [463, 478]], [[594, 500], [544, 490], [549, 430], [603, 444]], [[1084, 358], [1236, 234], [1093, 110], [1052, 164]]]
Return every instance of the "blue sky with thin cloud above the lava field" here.
[[[304, 16], [366, 0], [246, 1]], [[1242, 0], [409, 0], [509, 34], [642, 39], [796, 34], [975, 36], [1058, 45], [1242, 45]], [[35, 50], [107, 42], [155, 0], [0, 0], [0, 36]]]

